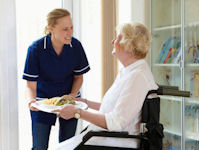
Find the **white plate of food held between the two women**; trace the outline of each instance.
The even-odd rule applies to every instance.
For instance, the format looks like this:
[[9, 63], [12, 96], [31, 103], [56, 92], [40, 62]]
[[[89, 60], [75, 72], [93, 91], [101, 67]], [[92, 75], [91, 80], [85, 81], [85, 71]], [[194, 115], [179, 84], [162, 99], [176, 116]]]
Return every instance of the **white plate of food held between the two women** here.
[[64, 95], [62, 97], [53, 97], [50, 99], [41, 99], [32, 103], [31, 105], [41, 111], [53, 113], [53, 110], [60, 109], [66, 104], [75, 105], [81, 109], [87, 109], [88, 105], [84, 102], [75, 101], [74, 98], [70, 95]]

